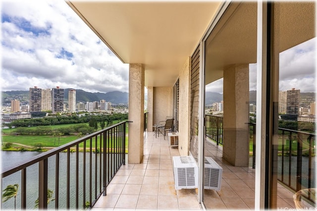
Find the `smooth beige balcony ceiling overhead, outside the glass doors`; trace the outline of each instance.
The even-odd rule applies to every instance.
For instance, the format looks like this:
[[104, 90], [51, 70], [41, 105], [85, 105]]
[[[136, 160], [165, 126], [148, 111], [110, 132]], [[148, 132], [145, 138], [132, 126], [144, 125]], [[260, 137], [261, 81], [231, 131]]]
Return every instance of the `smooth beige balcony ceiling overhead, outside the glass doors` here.
[[124, 63], [145, 65], [145, 85], [171, 87], [220, 1], [68, 1]]

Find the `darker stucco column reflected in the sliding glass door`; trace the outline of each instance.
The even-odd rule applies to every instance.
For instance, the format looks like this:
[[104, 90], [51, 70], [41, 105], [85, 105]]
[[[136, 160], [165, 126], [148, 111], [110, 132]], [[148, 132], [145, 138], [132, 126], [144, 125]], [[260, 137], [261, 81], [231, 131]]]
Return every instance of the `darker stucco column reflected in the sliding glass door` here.
[[234, 166], [249, 166], [249, 64], [223, 71], [223, 152]]

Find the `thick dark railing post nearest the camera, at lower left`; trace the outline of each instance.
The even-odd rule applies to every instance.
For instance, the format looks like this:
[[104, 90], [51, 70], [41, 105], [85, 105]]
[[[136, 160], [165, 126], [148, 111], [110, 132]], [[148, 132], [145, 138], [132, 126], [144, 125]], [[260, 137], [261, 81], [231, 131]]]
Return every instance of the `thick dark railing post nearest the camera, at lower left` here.
[[39, 210], [48, 208], [48, 159], [39, 161]]

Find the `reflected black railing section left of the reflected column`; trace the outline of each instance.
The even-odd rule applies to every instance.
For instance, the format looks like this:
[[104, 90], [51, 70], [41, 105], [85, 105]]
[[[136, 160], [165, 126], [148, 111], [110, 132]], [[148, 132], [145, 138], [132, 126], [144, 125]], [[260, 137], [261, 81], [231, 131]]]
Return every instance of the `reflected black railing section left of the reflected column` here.
[[212, 140], [214, 140], [217, 145], [222, 145], [222, 116], [214, 116], [210, 114], [206, 114], [206, 136]]

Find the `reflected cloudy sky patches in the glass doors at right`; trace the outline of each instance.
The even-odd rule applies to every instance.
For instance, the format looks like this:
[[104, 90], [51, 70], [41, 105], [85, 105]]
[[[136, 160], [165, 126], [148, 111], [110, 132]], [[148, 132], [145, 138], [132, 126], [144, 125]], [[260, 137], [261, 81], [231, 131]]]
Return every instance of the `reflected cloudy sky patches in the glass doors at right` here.
[[[250, 90], [257, 90], [257, 64], [249, 65]], [[208, 92], [223, 93], [223, 79], [206, 86]], [[279, 90], [292, 88], [316, 92], [316, 38], [279, 54]]]

